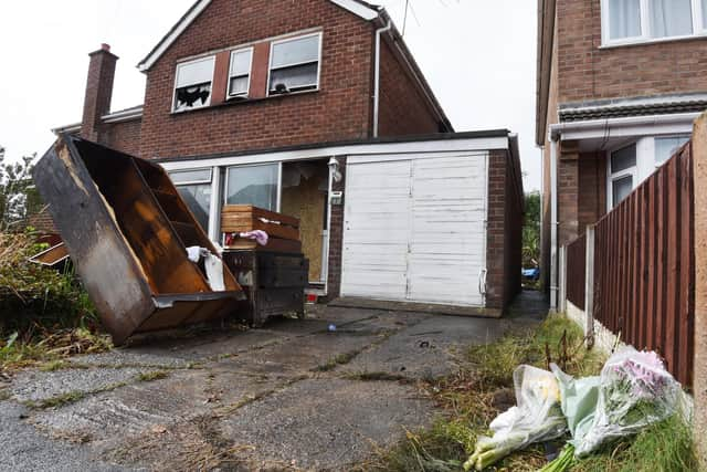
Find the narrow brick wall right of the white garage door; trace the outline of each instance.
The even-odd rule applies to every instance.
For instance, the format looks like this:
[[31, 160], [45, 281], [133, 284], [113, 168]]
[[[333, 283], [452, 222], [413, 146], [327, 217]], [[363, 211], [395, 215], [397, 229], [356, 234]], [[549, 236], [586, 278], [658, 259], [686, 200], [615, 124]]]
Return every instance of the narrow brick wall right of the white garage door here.
[[520, 164], [506, 150], [488, 159], [486, 307], [503, 310], [521, 289], [524, 197]]

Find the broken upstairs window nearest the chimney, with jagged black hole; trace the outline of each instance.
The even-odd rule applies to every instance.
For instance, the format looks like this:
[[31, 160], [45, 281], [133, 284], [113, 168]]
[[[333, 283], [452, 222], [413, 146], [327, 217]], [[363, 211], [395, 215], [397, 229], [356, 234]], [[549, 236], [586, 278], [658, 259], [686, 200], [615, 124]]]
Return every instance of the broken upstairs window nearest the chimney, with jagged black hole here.
[[209, 106], [215, 57], [199, 59], [177, 65], [175, 112]]

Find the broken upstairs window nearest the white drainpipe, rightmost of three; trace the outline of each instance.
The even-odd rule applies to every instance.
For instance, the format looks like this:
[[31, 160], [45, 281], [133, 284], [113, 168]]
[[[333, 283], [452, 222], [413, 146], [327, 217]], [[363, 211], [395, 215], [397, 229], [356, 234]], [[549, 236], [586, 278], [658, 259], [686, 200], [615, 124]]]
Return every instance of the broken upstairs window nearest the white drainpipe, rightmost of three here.
[[317, 90], [321, 34], [273, 42], [268, 95]]

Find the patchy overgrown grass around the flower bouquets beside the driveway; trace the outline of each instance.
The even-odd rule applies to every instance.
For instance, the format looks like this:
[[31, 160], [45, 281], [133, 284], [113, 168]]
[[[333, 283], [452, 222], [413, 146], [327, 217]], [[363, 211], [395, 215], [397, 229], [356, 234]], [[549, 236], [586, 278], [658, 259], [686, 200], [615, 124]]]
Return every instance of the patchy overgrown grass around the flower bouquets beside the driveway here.
[[[515, 406], [513, 373], [521, 364], [544, 369], [549, 361], [573, 376], [597, 375], [605, 357], [583, 347], [579, 326], [562, 315], [549, 316], [535, 329], [518, 331], [495, 343], [468, 348], [466, 364], [453, 376], [429, 382], [424, 390], [443, 415], [430, 428], [407, 431], [407, 439], [380, 450], [358, 471], [460, 471], [488, 423]], [[558, 442], [561, 447], [562, 441]], [[495, 464], [496, 471], [537, 471], [547, 463], [545, 449], [534, 444]], [[606, 447], [571, 469], [579, 472], [694, 471], [689, 429], [677, 418]]]

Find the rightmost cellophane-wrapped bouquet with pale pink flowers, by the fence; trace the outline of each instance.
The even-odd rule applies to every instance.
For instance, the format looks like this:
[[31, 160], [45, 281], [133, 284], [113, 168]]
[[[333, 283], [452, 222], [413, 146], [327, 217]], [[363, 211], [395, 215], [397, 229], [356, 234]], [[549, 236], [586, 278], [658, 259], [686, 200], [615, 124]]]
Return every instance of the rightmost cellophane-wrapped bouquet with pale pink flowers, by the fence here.
[[629, 347], [612, 355], [601, 371], [593, 421], [570, 441], [576, 457], [669, 418], [680, 410], [683, 399], [679, 382], [655, 353]]

